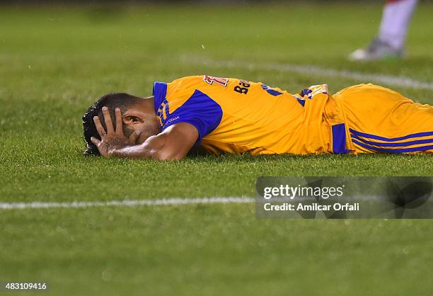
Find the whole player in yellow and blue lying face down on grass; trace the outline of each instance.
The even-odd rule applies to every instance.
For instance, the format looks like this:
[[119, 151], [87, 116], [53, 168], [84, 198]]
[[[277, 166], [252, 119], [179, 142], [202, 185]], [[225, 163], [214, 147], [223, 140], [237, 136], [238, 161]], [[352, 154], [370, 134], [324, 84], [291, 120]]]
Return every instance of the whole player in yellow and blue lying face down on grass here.
[[[112, 119], [114, 119], [112, 121]], [[432, 153], [433, 107], [372, 84], [291, 94], [213, 76], [155, 82], [154, 96], [110, 93], [83, 115], [86, 155], [182, 159], [219, 154]]]

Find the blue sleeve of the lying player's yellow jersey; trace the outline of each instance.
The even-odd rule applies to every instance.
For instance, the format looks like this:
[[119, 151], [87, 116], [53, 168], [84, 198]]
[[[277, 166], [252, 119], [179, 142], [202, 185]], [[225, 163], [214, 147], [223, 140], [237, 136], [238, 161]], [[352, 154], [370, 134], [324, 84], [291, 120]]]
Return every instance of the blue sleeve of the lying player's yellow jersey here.
[[199, 136], [196, 144], [200, 144], [202, 138], [221, 123], [221, 106], [201, 91], [195, 90], [192, 96], [174, 111], [170, 110], [171, 101], [175, 105], [175, 98], [164, 100], [156, 111], [161, 131], [176, 123], [189, 123], [197, 129]]

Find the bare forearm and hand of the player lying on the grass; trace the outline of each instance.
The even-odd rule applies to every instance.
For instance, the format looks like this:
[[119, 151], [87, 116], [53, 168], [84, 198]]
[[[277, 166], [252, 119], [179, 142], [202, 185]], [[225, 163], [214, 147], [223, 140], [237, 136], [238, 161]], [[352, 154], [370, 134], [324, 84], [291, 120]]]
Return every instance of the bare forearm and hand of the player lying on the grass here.
[[133, 132], [127, 138], [123, 135], [122, 114], [115, 110], [116, 129], [113, 128], [108, 109], [103, 109], [105, 126], [100, 123], [98, 116], [93, 118], [96, 130], [101, 140], [93, 137], [93, 144], [98, 147], [105, 157], [120, 157], [134, 159], [174, 160], [183, 159], [198, 138], [197, 129], [189, 123], [176, 123], [158, 135], [149, 137], [142, 144], [135, 144], [138, 135]]

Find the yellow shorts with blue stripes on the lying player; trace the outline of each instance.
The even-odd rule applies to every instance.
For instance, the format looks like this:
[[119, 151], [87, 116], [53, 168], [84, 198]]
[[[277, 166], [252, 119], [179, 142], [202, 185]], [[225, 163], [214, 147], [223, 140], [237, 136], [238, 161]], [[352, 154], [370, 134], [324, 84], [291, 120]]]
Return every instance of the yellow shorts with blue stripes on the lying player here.
[[373, 84], [350, 86], [331, 98], [355, 154], [433, 153], [433, 107]]

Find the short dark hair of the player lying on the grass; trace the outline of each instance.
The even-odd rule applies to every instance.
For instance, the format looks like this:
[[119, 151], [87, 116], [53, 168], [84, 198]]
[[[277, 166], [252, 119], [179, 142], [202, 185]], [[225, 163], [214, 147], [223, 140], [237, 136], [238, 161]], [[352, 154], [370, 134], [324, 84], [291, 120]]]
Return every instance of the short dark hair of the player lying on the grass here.
[[86, 142], [86, 150], [83, 152], [83, 154], [100, 155], [98, 147], [91, 142], [91, 137], [100, 139], [95, 123], [93, 123], [93, 117], [99, 116], [100, 122], [106, 129], [102, 113], [102, 108], [104, 106], [110, 110], [112, 124], [115, 126], [115, 108], [120, 108], [122, 113], [125, 113], [128, 108], [131, 108], [140, 100], [141, 98], [137, 96], [131, 96], [127, 93], [108, 93], [108, 95], [101, 97], [96, 103], [90, 106], [83, 115], [84, 141]]

